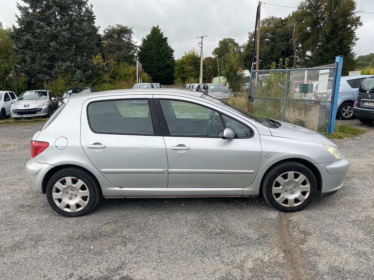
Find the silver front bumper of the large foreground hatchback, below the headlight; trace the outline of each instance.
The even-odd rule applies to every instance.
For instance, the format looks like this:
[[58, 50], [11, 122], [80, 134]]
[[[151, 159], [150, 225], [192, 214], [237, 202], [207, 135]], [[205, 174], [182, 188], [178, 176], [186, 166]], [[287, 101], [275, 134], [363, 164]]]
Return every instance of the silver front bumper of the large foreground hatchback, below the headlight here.
[[341, 160], [335, 159], [333, 162], [325, 164], [315, 164], [322, 177], [321, 193], [332, 193], [340, 189], [344, 184], [346, 178], [349, 161], [344, 158]]

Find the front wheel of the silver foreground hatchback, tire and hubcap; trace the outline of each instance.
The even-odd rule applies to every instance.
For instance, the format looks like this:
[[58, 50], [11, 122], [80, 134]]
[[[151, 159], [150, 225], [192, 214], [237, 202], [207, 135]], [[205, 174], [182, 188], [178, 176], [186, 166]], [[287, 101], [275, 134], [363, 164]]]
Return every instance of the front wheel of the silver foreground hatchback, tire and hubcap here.
[[[286, 174], [287, 172], [295, 172], [294, 178], [289, 178], [288, 174]], [[300, 174], [304, 175], [304, 180]], [[281, 179], [285, 182], [284, 186], [279, 183]], [[303, 181], [297, 182], [297, 179]], [[307, 191], [308, 185], [309, 191]], [[275, 189], [281, 187], [278, 190], [279, 193], [274, 193], [273, 195], [273, 187]], [[262, 193], [266, 201], [274, 208], [283, 212], [295, 212], [305, 208], [312, 202], [316, 192], [317, 182], [312, 171], [305, 165], [294, 161], [282, 162], [270, 169], [265, 175], [262, 184]], [[304, 201], [302, 202], [296, 196], [304, 199]], [[290, 199], [287, 199], [287, 197], [290, 197]], [[279, 199], [279, 202], [276, 199]], [[294, 206], [292, 206], [292, 201], [294, 202]]]

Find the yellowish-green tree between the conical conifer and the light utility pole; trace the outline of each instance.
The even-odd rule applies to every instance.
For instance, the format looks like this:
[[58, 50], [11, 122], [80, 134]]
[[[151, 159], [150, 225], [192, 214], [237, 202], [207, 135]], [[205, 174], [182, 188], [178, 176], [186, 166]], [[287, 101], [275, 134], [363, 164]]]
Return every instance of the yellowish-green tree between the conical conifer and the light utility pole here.
[[184, 53], [177, 59], [175, 66], [175, 81], [177, 84], [198, 83], [200, 77], [200, 56], [195, 49]]

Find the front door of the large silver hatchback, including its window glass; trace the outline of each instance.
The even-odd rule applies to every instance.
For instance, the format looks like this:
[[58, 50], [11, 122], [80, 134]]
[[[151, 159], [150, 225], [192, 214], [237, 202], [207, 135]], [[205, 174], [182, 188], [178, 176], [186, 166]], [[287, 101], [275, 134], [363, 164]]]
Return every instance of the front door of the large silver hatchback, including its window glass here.
[[[252, 184], [261, 158], [260, 137], [254, 127], [200, 100], [154, 97], [165, 135], [168, 187], [244, 188]], [[243, 133], [234, 130], [237, 139], [222, 138], [229, 122], [233, 128], [243, 129]]]

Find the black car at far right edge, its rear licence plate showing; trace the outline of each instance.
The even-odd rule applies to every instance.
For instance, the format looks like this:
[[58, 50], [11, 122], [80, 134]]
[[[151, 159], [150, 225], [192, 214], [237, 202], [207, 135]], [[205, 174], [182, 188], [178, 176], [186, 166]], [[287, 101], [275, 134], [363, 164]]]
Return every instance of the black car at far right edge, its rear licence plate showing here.
[[364, 124], [374, 122], [374, 77], [362, 81], [353, 113]]

